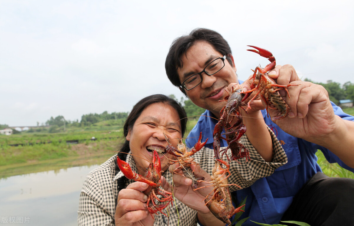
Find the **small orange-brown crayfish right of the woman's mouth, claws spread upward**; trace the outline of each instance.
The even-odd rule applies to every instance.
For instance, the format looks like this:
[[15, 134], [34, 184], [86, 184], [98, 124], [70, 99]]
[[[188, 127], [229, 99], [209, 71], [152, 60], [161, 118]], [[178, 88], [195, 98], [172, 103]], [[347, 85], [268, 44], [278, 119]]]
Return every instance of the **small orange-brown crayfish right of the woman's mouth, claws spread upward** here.
[[[166, 139], [168, 142], [168, 139]], [[194, 158], [191, 156], [195, 154], [197, 151], [199, 151], [204, 145], [208, 139], [206, 139], [203, 143], [201, 142], [201, 132], [199, 135], [199, 140], [198, 142], [194, 145], [194, 148], [190, 149], [190, 151], [187, 151], [187, 148], [185, 148], [184, 143], [182, 140], [178, 140], [178, 145], [177, 148], [168, 145], [166, 147], [166, 152], [176, 156], [178, 160], [170, 160], [170, 163], [179, 163], [179, 167], [177, 169], [182, 169], [182, 172], [185, 177], [188, 177], [189, 179], [192, 179], [192, 187], [197, 188], [198, 187], [198, 180], [204, 180], [204, 178], [195, 178], [192, 169], [190, 169], [190, 164], [194, 161]], [[169, 142], [170, 143], [170, 142]]]

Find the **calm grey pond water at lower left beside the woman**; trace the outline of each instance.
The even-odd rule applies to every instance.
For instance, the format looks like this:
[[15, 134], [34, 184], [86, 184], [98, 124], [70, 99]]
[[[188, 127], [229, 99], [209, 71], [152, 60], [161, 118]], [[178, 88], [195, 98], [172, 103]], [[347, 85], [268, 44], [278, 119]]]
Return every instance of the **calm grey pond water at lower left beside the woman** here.
[[77, 225], [86, 175], [97, 165], [0, 179], [0, 225]]

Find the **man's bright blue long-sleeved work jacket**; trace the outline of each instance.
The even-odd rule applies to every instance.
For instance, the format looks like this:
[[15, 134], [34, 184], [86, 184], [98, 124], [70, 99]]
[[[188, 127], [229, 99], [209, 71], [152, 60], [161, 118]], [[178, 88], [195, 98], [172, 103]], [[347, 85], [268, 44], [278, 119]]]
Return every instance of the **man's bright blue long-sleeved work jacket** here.
[[[331, 102], [332, 103], [332, 102]], [[332, 103], [333, 110], [336, 115], [339, 115], [345, 120], [354, 121], [352, 115], [348, 115], [341, 108]], [[293, 137], [282, 131], [275, 123], [267, 117], [267, 112], [262, 110], [265, 123], [271, 128], [279, 141], [284, 141], [282, 147], [288, 157], [288, 163], [280, 166], [275, 170], [274, 174], [264, 177], [256, 181], [252, 186], [233, 192], [233, 196], [237, 198], [236, 204], [247, 197], [245, 213], [241, 218], [250, 216], [249, 220], [266, 224], [278, 224], [286, 209], [292, 203], [292, 199], [299, 189], [312, 177], [315, 173], [320, 172], [321, 168], [317, 164], [315, 153], [320, 149], [328, 162], [337, 162], [343, 168], [354, 172], [344, 164], [335, 154], [329, 149], [310, 143], [303, 139]], [[202, 132], [203, 141], [209, 138], [206, 147], [213, 148], [213, 130], [217, 120], [211, 117], [214, 115], [206, 110], [199, 118], [198, 123], [194, 126], [186, 139], [186, 145], [190, 148], [198, 142], [199, 134]], [[226, 147], [227, 143], [221, 140], [221, 146]], [[233, 219], [231, 219], [232, 221]], [[255, 225], [247, 220], [242, 225]]]

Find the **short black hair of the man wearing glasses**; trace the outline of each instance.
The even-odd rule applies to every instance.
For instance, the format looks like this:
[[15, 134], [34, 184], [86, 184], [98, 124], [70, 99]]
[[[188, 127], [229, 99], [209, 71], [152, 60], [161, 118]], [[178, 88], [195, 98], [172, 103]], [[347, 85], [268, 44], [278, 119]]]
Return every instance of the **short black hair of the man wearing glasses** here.
[[229, 44], [214, 30], [197, 28], [192, 30], [189, 35], [184, 35], [173, 40], [165, 61], [166, 74], [171, 83], [179, 87], [185, 95], [185, 90], [182, 87], [181, 81], [179, 81], [177, 69], [183, 67], [183, 62], [181, 60], [182, 54], [185, 54], [197, 41], [207, 41], [215, 50], [222, 55], [226, 55], [227, 61], [231, 66], [234, 66], [230, 58], [231, 49]]

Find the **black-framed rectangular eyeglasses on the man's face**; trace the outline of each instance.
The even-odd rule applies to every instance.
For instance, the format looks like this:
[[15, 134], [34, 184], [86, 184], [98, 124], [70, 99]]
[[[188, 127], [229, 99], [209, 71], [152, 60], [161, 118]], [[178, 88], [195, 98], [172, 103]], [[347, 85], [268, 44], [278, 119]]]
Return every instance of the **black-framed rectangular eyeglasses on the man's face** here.
[[216, 58], [215, 60], [210, 62], [201, 72], [196, 73], [190, 76], [189, 78], [187, 78], [186, 80], [184, 80], [182, 83], [182, 87], [185, 90], [191, 90], [195, 88], [203, 81], [203, 77], [201, 76], [203, 72], [205, 72], [205, 74], [207, 75], [213, 75], [217, 73], [225, 66], [225, 62], [224, 62], [225, 59], [226, 59], [226, 55], [223, 57]]

